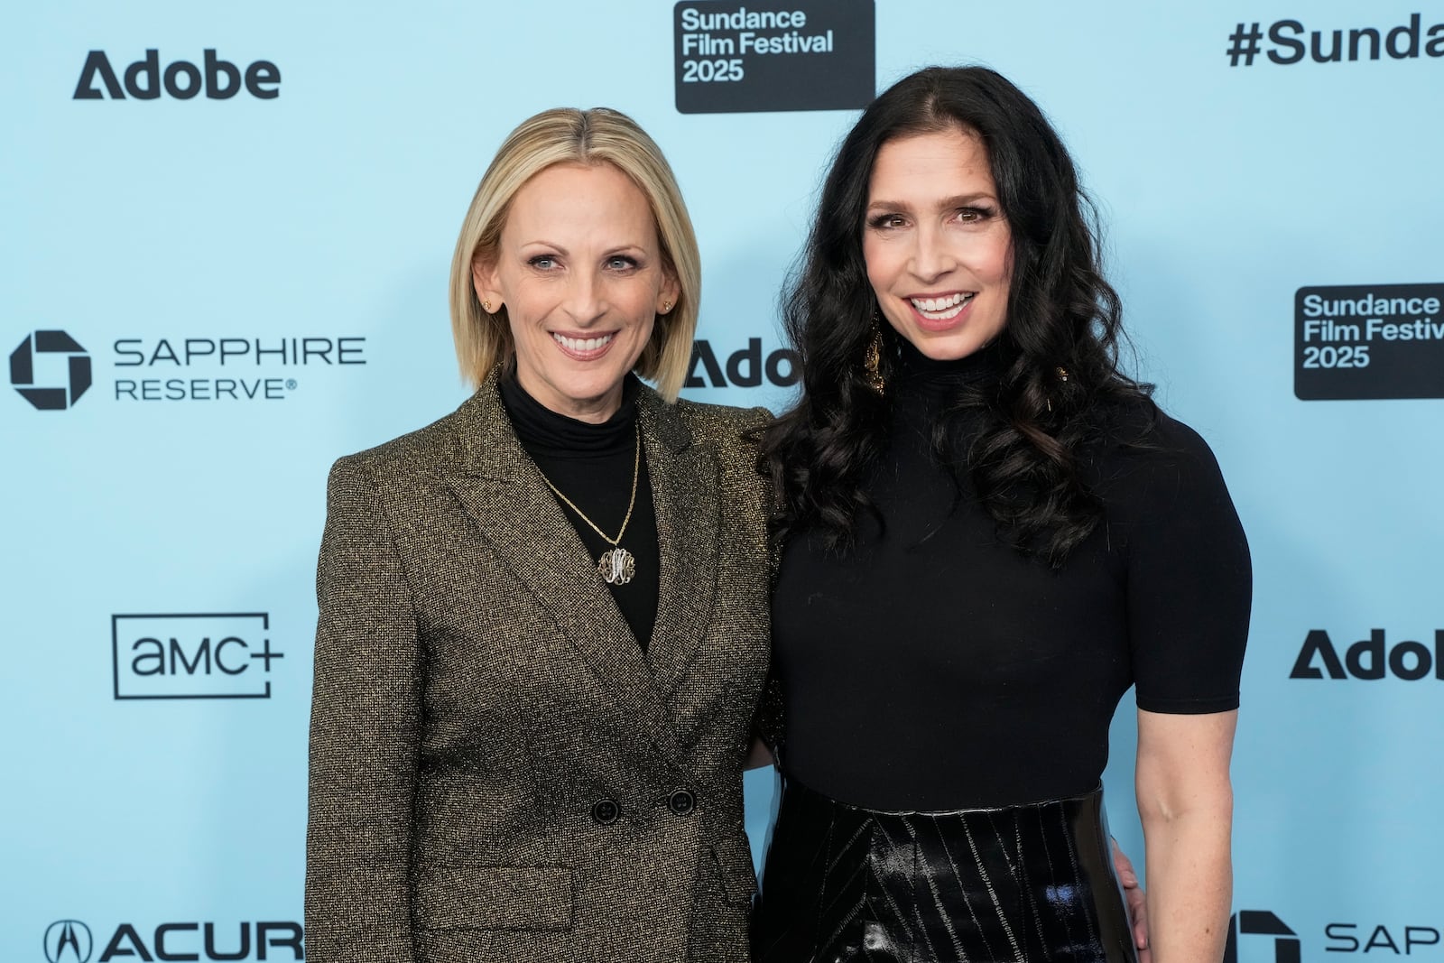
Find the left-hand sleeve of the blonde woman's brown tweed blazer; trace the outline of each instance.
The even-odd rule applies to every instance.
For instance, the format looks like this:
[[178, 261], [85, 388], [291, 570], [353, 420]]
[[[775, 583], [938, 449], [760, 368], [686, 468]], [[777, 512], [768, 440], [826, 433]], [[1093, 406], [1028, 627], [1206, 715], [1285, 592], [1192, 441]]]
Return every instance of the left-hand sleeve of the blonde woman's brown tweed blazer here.
[[341, 459], [316, 572], [306, 957], [412, 963], [412, 826], [422, 654], [377, 487]]

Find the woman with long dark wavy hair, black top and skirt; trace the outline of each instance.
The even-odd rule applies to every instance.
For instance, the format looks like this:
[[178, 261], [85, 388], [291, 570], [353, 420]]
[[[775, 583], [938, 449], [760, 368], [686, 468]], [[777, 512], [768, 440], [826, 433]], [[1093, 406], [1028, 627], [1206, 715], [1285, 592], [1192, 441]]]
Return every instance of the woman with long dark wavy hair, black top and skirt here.
[[1223, 953], [1248, 544], [1207, 445], [1119, 372], [1087, 211], [992, 71], [900, 81], [839, 149], [764, 442], [758, 960], [1134, 960], [1099, 788], [1129, 686], [1154, 960]]

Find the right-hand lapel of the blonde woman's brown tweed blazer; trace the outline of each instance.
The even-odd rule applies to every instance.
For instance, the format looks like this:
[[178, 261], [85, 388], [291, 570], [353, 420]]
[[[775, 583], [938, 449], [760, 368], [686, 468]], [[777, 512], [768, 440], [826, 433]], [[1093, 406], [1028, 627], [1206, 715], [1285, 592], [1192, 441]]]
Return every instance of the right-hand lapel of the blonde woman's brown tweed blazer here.
[[712, 621], [718, 572], [718, 456], [693, 443], [677, 410], [654, 391], [637, 397], [647, 439], [661, 578], [647, 658], [657, 687], [670, 692], [686, 673]]

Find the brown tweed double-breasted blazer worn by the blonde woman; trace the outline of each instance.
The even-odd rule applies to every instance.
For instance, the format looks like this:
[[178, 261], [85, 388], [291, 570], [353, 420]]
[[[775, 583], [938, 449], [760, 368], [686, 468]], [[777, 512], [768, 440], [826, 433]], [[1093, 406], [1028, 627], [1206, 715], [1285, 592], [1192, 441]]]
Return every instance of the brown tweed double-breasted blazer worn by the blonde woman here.
[[306, 954], [747, 960], [741, 767], [768, 661], [751, 411], [650, 388], [644, 653], [488, 380], [331, 471]]

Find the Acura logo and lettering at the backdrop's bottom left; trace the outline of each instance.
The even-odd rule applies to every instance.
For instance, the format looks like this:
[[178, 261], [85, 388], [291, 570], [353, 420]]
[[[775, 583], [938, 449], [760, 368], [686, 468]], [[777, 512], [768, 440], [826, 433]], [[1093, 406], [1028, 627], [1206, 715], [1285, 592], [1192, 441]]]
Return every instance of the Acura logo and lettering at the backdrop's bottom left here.
[[[104, 930], [101, 931], [104, 934]], [[46, 963], [91, 963], [91, 930], [79, 920], [56, 920], [45, 930]], [[134, 923], [116, 925], [94, 956], [111, 960], [302, 960], [299, 923], [162, 923], [155, 928]]]

